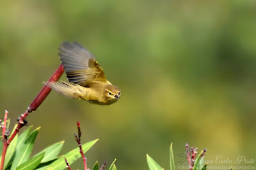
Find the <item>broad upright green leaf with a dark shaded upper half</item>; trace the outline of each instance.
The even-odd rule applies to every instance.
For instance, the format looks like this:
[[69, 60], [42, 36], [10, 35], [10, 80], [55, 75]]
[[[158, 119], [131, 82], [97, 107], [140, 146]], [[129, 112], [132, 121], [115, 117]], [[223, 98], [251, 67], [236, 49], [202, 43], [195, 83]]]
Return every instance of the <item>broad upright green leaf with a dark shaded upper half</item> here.
[[26, 139], [21, 143], [19, 148], [16, 151], [16, 157], [13, 160], [12, 169], [18, 167], [23, 162], [26, 162], [31, 155], [31, 151], [33, 149], [36, 135], [41, 127], [36, 128], [31, 134], [26, 137]]

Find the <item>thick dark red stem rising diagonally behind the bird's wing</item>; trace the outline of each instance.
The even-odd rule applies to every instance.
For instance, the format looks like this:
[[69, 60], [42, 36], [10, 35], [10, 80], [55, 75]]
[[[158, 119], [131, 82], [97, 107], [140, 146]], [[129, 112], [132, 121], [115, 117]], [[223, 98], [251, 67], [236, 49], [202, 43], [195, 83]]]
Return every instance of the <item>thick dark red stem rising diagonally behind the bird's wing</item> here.
[[[58, 79], [60, 79], [63, 72], [64, 72], [63, 65], [60, 65], [59, 68], [52, 74], [49, 81], [58, 81]], [[3, 143], [3, 152], [2, 152], [0, 170], [3, 170], [4, 158], [5, 158], [6, 150], [9, 144], [12, 142], [13, 138], [17, 135], [20, 128], [26, 125], [26, 123], [24, 123], [25, 118], [29, 115], [30, 112], [35, 111], [38, 108], [38, 106], [42, 104], [42, 102], [44, 102], [45, 98], [47, 97], [47, 95], [49, 95], [50, 92], [51, 92], [51, 88], [45, 85], [42, 88], [42, 90], [38, 93], [36, 98], [33, 100], [33, 102], [29, 105], [28, 109], [24, 112], [24, 114], [21, 114], [17, 128], [13, 132], [12, 136], [8, 139], [8, 141], [3, 141], [4, 143]]]

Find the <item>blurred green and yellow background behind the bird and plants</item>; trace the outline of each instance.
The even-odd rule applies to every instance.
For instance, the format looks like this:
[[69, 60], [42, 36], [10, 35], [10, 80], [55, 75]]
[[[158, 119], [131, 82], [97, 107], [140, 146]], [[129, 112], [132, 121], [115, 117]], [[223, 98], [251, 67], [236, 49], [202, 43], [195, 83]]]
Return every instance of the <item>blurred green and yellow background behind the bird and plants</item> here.
[[[148, 169], [148, 153], [168, 169], [171, 142], [177, 164], [186, 162], [186, 143], [207, 148], [211, 166], [220, 166], [218, 156], [233, 160], [224, 166], [255, 160], [255, 8], [256, 1], [1, 2], [2, 117], [7, 109], [14, 125], [60, 65], [60, 43], [77, 41], [122, 97], [100, 106], [52, 91], [28, 117], [42, 127], [34, 153], [62, 140], [62, 153], [76, 148], [79, 120], [83, 143], [100, 139], [86, 153], [91, 168], [117, 158], [118, 169]], [[71, 167], [83, 169], [82, 160]]]

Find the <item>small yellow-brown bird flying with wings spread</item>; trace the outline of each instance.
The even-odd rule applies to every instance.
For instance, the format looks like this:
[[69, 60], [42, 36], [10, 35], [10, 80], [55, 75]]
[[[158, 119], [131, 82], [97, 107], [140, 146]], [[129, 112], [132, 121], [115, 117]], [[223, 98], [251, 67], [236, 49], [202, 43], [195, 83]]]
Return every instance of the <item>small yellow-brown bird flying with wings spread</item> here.
[[63, 42], [58, 55], [68, 81], [43, 82], [57, 93], [91, 104], [110, 105], [118, 101], [121, 91], [106, 79], [95, 57], [78, 42]]

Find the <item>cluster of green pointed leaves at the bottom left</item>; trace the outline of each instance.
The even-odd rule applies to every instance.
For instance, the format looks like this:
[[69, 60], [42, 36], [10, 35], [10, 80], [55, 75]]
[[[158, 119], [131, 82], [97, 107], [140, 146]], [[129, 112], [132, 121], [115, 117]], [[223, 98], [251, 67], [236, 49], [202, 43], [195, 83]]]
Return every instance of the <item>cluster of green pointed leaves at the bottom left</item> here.
[[[22, 134], [16, 135], [10, 143], [6, 152], [4, 169], [65, 169], [67, 165], [63, 157], [67, 158], [69, 165], [81, 157], [78, 147], [68, 151], [65, 155], [59, 156], [64, 141], [54, 143], [31, 157], [35, 139], [40, 130], [40, 127], [38, 127], [31, 132], [32, 127], [27, 128]], [[84, 153], [97, 141], [98, 139], [82, 144]], [[2, 140], [0, 141], [0, 147], [3, 147]], [[109, 169], [116, 169], [114, 162]], [[99, 166], [95, 164], [93, 169], [99, 169]]]

